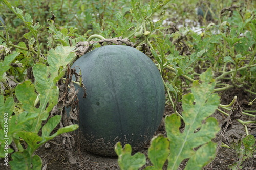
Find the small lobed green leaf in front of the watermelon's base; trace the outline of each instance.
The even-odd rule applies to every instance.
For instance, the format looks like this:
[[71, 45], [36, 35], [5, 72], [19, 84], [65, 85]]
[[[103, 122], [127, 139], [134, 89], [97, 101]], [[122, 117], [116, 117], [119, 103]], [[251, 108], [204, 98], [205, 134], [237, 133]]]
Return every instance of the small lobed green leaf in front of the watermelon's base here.
[[146, 157], [142, 153], [136, 153], [131, 156], [132, 147], [130, 144], [125, 144], [122, 148], [121, 143], [115, 145], [115, 151], [118, 155], [118, 165], [121, 170], [137, 170], [146, 163]]

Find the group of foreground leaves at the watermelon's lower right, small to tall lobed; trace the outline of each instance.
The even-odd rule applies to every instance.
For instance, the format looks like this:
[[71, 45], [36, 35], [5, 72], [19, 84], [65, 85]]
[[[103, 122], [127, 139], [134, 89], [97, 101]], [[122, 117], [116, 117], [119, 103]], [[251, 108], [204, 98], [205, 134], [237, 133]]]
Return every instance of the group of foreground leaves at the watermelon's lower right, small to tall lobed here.
[[[191, 93], [183, 96], [182, 116], [185, 129], [182, 133], [179, 130], [181, 119], [178, 115], [172, 114], [165, 118], [167, 138], [157, 136], [152, 139], [151, 146], [148, 148], [148, 157], [153, 166], [146, 167], [146, 169], [162, 169], [166, 160], [168, 160], [167, 169], [178, 169], [180, 163], [187, 158], [189, 160], [185, 169], [201, 169], [214, 159], [217, 144], [211, 139], [215, 137], [220, 128], [217, 120], [209, 116], [218, 108], [220, 99], [218, 94], [212, 94], [216, 85], [212, 76], [212, 69], [208, 69], [200, 75], [202, 83], [194, 81]], [[205, 123], [202, 124], [203, 121]], [[200, 148], [195, 151], [198, 147]], [[131, 146], [126, 144], [125, 148], [121, 149], [118, 143], [116, 148], [118, 148], [116, 153], [120, 168], [127, 169], [123, 166], [124, 164], [126, 167], [135, 167], [133, 163], [136, 161], [131, 158]], [[125, 156], [126, 154], [129, 154], [129, 157]], [[143, 156], [140, 156], [139, 159], [142, 158]], [[139, 165], [134, 169], [144, 164]]]

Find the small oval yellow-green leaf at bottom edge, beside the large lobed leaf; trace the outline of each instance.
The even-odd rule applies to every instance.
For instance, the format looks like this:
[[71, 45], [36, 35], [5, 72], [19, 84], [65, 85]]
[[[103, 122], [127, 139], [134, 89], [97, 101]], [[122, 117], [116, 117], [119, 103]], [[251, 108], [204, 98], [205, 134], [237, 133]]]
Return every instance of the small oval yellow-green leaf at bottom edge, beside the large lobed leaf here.
[[148, 148], [148, 157], [156, 169], [162, 169], [169, 155], [169, 141], [163, 136], [152, 139]]

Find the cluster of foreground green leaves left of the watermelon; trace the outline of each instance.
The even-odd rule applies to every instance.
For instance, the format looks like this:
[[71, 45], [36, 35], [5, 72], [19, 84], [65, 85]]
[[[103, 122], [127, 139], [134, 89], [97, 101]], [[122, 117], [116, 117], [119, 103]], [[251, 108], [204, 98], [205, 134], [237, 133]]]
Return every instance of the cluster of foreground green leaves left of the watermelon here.
[[[20, 149], [20, 152], [12, 154], [13, 160], [10, 161], [10, 165], [13, 169], [30, 169], [31, 164], [33, 169], [40, 169], [42, 165], [41, 159], [36, 155], [33, 156], [34, 151], [55, 136], [78, 128], [78, 125], [71, 125], [58, 129], [56, 133], [50, 135], [53, 129], [59, 124], [61, 119], [60, 115], [51, 117], [42, 127], [42, 121], [48, 118], [49, 112], [58, 103], [59, 89], [56, 83], [65, 73], [67, 64], [74, 59], [73, 49], [73, 47], [59, 46], [55, 50], [50, 50], [47, 58], [49, 66], [41, 63], [33, 66], [33, 74], [36, 83], [33, 84], [31, 81], [27, 80], [17, 85], [15, 94], [19, 102], [22, 103], [24, 112], [19, 115], [14, 115], [11, 118], [9, 115], [9, 120], [7, 120], [8, 127], [10, 127], [7, 134], [7, 137], [9, 137], [8, 144], [10, 144], [13, 139]], [[3, 103], [2, 106], [4, 107], [1, 109], [1, 115], [3, 116], [5, 113], [11, 114], [14, 108], [13, 98], [7, 98], [5, 103], [2, 95], [1, 99]], [[39, 106], [37, 106], [38, 104]], [[1, 127], [1, 133], [3, 133], [4, 120], [1, 122]], [[39, 136], [38, 132], [41, 128], [42, 136]], [[20, 148], [19, 137], [23, 138], [28, 144], [27, 149], [24, 150]], [[3, 155], [3, 153], [1, 153], [1, 155]], [[21, 165], [18, 163], [23, 159], [26, 160], [26, 164]]]

